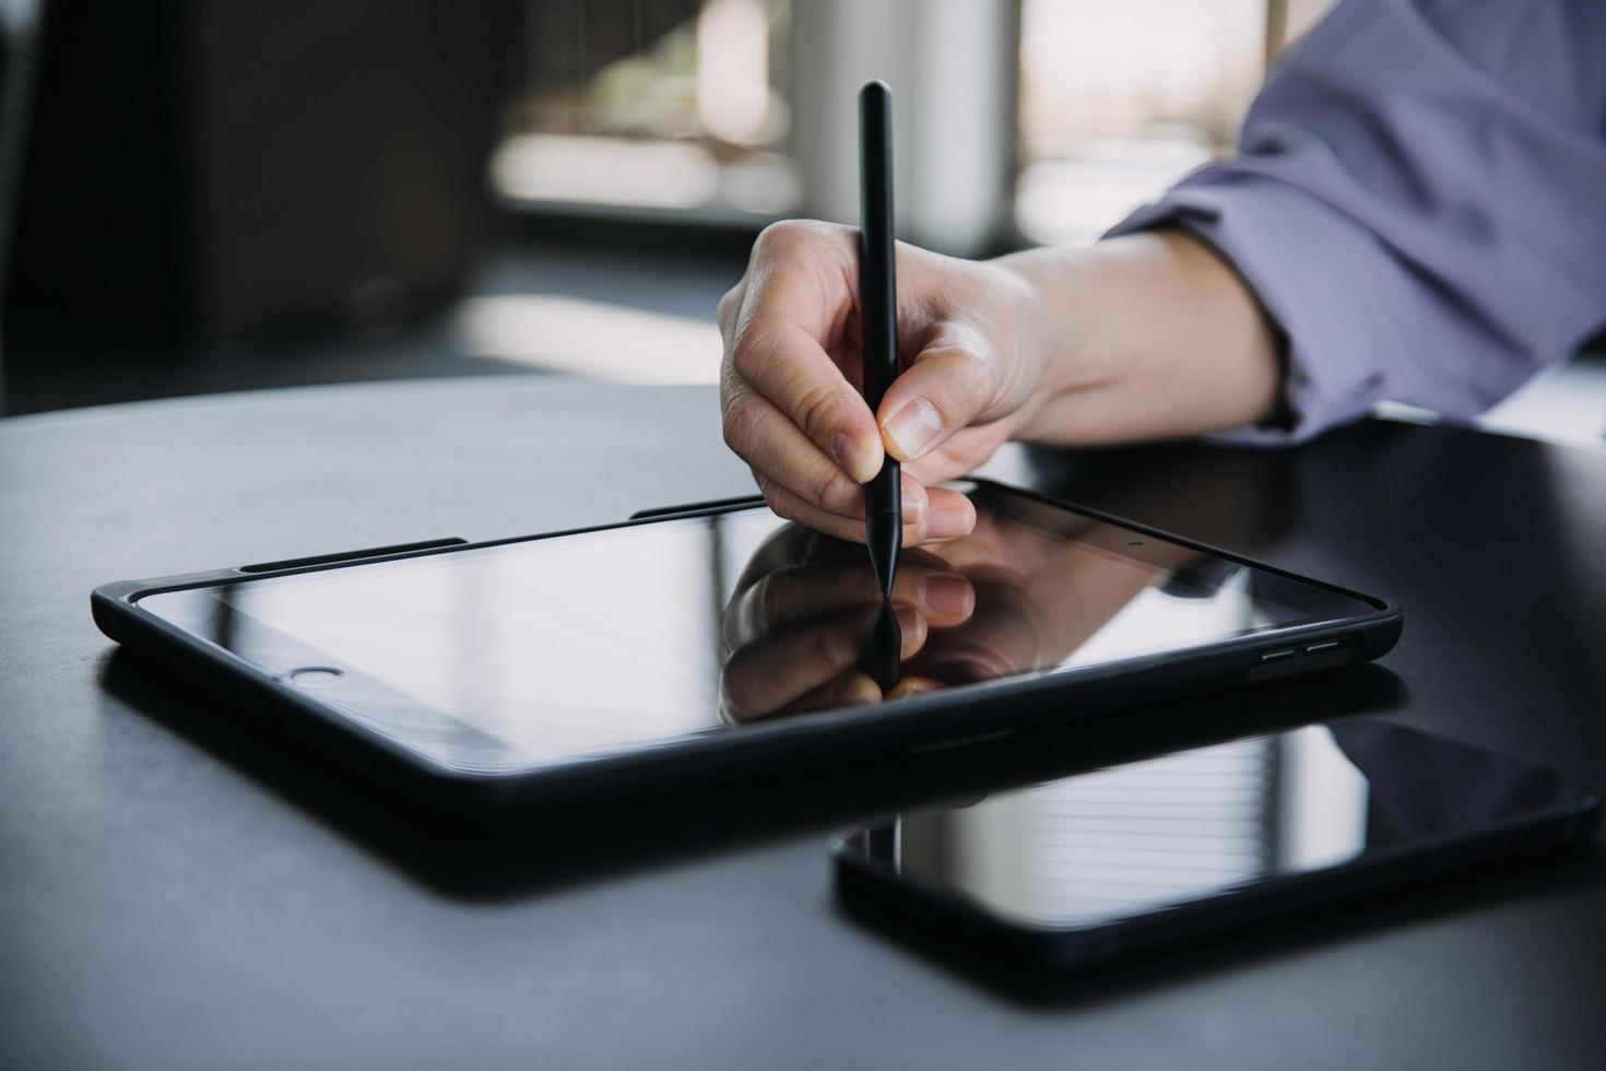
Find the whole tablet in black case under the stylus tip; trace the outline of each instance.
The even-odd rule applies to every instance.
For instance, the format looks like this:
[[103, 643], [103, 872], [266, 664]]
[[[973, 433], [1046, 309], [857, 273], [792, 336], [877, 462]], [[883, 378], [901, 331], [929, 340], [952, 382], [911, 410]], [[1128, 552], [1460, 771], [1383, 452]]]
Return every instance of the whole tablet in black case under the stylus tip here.
[[[634, 788], [1090, 718], [1375, 658], [1383, 599], [989, 482], [962, 540], [867, 554], [761, 501], [96, 589], [95, 618], [411, 785]], [[226, 716], [226, 715], [220, 715]]]

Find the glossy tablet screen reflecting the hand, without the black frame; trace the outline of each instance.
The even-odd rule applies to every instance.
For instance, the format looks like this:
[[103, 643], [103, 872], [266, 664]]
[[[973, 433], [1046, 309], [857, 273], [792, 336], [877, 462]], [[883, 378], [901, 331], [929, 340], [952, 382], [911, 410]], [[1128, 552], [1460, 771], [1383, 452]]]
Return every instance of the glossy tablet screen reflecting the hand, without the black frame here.
[[140, 607], [458, 768], [533, 768], [779, 716], [1352, 618], [1373, 605], [1004, 488], [904, 551], [737, 509], [157, 593]]

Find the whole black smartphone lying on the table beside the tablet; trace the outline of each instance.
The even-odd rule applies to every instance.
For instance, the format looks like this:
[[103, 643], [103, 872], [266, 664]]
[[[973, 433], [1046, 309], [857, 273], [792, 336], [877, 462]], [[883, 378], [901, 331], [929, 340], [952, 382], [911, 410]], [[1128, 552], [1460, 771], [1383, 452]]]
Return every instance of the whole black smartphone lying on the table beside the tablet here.
[[1600, 806], [1551, 769], [1347, 718], [895, 816], [832, 854], [851, 914], [1044, 976], [1580, 846]]

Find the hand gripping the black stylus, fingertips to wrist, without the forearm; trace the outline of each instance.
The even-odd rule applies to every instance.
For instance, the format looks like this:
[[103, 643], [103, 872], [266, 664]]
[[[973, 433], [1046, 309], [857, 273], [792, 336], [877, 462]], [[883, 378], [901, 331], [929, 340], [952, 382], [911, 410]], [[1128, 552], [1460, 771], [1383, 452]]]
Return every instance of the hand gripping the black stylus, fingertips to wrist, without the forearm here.
[[975, 527], [965, 496], [931, 487], [970, 472], [1028, 419], [1042, 377], [1036, 291], [1001, 262], [898, 246], [906, 371], [878, 413], [861, 397], [858, 231], [776, 223], [719, 303], [724, 440], [769, 507], [864, 541], [864, 488], [904, 462], [904, 546]]

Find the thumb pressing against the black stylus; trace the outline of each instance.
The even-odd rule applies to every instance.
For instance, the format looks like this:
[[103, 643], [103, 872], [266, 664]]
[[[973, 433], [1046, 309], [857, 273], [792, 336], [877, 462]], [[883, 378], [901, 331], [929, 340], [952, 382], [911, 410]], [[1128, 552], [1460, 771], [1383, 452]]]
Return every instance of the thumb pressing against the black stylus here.
[[973, 347], [936, 340], [893, 381], [875, 413], [898, 461], [919, 461], [993, 405], [997, 368]]

